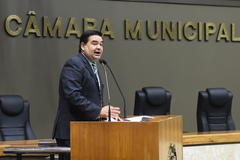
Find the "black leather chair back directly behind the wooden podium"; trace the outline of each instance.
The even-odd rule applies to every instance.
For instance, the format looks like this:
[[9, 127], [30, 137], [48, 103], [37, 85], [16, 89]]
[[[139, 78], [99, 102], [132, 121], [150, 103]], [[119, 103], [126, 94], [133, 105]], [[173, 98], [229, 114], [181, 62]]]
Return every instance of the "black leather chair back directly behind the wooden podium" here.
[[172, 95], [162, 87], [135, 92], [134, 115], [169, 115]]

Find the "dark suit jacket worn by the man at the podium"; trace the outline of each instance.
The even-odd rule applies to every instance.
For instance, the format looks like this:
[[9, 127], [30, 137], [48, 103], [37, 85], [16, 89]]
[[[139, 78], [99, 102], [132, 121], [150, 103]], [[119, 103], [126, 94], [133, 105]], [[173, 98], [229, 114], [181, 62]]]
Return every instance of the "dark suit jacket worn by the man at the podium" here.
[[[101, 83], [102, 88], [102, 83]], [[59, 107], [53, 137], [70, 140], [70, 121], [94, 121], [101, 111], [101, 94], [92, 67], [80, 53], [63, 66]]]

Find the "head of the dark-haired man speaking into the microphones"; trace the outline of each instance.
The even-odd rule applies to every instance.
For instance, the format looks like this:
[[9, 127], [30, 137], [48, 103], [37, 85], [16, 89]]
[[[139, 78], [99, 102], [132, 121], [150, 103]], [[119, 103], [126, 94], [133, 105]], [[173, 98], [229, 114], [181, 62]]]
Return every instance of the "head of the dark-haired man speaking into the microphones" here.
[[88, 30], [81, 35], [79, 52], [83, 52], [92, 62], [97, 62], [103, 52], [102, 33]]

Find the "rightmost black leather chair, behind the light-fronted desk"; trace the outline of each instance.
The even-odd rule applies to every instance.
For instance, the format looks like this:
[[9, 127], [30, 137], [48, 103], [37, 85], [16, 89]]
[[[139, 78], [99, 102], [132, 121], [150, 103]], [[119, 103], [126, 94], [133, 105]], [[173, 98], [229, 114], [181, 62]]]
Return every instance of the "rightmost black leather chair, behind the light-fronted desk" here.
[[235, 130], [231, 115], [233, 94], [225, 88], [207, 88], [198, 94], [198, 132]]

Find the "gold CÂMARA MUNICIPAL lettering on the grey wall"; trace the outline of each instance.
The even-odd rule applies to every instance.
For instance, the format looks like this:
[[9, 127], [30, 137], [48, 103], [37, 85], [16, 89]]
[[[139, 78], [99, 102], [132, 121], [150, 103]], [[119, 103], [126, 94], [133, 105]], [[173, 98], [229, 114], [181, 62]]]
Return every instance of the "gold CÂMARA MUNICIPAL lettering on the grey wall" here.
[[[5, 31], [8, 35], [16, 37], [23, 35], [28, 37], [35, 35], [36, 37], [50, 37], [50, 38], [69, 38], [75, 36], [80, 38], [81, 31], [97, 30], [99, 29], [103, 36], [114, 39], [114, 29], [111, 26], [109, 19], [103, 19], [101, 26], [98, 26], [98, 22], [93, 18], [83, 18], [82, 27], [79, 26], [79, 19], [70, 17], [69, 20], [65, 20], [67, 23], [66, 29], [63, 28], [64, 19], [62, 17], [56, 17], [55, 22], [50, 22], [47, 16], [39, 17], [42, 19], [42, 24], [38, 24], [38, 16], [35, 11], [29, 11], [27, 13], [28, 20], [23, 22], [18, 15], [9, 15], [5, 20]], [[145, 25], [143, 25], [145, 23]], [[26, 26], [24, 26], [26, 24]], [[166, 21], [150, 21], [142, 20], [130, 21], [124, 20], [123, 33], [126, 40], [142, 40], [143, 34], [150, 40], [178, 40], [183, 39], [187, 41], [209, 41], [215, 39], [216, 42], [240, 42], [240, 35], [236, 35], [236, 26], [231, 24], [215, 24], [212, 22], [166, 22]], [[64, 32], [65, 31], [65, 32]], [[117, 32], [117, 31], [115, 31]]]

